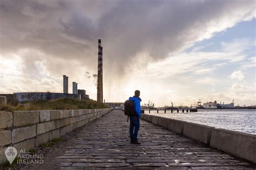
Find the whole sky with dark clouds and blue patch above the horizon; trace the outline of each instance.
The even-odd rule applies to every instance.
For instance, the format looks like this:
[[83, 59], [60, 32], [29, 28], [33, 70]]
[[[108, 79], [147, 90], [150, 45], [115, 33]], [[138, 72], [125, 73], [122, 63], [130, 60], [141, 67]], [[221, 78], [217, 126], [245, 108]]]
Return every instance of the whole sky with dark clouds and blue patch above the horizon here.
[[0, 93], [62, 93], [63, 75], [96, 100], [256, 104], [256, 1], [0, 0]]

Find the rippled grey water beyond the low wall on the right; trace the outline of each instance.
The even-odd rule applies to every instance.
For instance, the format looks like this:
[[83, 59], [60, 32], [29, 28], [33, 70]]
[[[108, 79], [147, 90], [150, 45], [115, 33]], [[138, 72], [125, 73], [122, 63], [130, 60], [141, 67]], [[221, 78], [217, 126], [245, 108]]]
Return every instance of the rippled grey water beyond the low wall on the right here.
[[[185, 110], [186, 111], [186, 110]], [[234, 130], [238, 132], [256, 134], [256, 110], [254, 109], [199, 109], [198, 112], [166, 112], [150, 111], [150, 115], [157, 115], [193, 122], [215, 128]], [[145, 112], [149, 114], [149, 112]]]

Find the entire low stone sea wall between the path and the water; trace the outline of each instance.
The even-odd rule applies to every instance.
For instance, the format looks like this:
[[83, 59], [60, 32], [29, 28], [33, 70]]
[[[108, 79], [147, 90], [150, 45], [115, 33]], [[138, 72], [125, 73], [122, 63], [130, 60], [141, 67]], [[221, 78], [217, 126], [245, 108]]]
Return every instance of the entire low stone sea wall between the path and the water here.
[[142, 119], [256, 164], [256, 135], [142, 114]]

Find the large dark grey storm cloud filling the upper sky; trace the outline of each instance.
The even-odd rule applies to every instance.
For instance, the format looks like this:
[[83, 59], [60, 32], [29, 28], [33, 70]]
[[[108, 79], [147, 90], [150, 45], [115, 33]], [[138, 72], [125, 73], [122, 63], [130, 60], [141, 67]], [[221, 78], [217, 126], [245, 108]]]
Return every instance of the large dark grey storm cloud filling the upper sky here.
[[[77, 60], [96, 68], [97, 39], [102, 39], [106, 69], [122, 74], [122, 63], [136, 54], [166, 58], [207, 38], [202, 37], [207, 32], [222, 31], [222, 18], [254, 8], [255, 1], [2, 0], [1, 53], [32, 48], [51, 60]], [[217, 28], [209, 31], [214, 23]], [[49, 69], [55, 70], [55, 64], [48, 62]]]

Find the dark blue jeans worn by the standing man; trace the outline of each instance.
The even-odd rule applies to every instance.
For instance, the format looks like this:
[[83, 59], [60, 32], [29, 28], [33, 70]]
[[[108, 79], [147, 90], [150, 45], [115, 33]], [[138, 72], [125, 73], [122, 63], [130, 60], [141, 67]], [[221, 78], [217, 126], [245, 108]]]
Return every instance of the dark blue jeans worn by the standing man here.
[[130, 138], [131, 141], [138, 141], [139, 117], [130, 116]]

